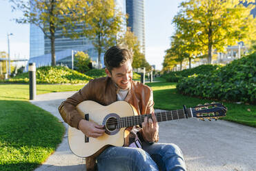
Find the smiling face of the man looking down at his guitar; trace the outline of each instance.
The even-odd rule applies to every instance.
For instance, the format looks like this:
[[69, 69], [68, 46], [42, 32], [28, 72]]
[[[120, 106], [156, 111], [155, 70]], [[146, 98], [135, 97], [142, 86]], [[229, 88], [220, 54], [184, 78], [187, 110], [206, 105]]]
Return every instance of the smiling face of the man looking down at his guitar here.
[[111, 73], [107, 69], [105, 70], [108, 77], [111, 77], [112, 81], [114, 81], [120, 89], [126, 90], [130, 88], [132, 81], [132, 63], [130, 63], [129, 59], [123, 66], [113, 68]]

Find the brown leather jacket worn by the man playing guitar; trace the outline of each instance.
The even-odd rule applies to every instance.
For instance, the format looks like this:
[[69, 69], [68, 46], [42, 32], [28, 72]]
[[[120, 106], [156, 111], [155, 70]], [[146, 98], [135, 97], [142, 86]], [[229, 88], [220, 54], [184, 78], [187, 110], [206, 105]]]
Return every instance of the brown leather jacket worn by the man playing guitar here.
[[[132, 81], [131, 85], [124, 101], [133, 105], [138, 114], [150, 114], [154, 112], [152, 90], [137, 81]], [[76, 106], [81, 103], [81, 101], [91, 100], [101, 105], [110, 105], [117, 101], [117, 91], [119, 91], [119, 89], [115, 86], [115, 83], [113, 83], [110, 77], [93, 79], [81, 90], [73, 94], [72, 97], [63, 101], [59, 106], [59, 113], [68, 125], [78, 128], [78, 123], [83, 118], [77, 112]]]

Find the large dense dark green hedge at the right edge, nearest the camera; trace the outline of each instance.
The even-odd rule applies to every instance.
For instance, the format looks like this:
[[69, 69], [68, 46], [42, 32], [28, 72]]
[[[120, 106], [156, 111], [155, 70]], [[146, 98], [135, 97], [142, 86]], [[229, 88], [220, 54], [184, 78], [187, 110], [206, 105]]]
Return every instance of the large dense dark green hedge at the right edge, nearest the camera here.
[[177, 90], [197, 97], [255, 104], [255, 83], [256, 53], [237, 59], [219, 70], [183, 78], [177, 83]]

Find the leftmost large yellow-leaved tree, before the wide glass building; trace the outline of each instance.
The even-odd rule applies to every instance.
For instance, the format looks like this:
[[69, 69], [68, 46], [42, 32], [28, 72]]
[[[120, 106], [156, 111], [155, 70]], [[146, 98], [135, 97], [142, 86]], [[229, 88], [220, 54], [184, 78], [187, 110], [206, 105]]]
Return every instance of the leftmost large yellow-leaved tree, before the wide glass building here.
[[39, 27], [50, 39], [52, 66], [55, 60], [55, 32], [66, 30], [66, 23], [72, 22], [70, 12], [76, 6], [75, 0], [10, 0], [13, 10], [20, 10], [23, 17], [16, 19], [17, 23], [32, 23]]

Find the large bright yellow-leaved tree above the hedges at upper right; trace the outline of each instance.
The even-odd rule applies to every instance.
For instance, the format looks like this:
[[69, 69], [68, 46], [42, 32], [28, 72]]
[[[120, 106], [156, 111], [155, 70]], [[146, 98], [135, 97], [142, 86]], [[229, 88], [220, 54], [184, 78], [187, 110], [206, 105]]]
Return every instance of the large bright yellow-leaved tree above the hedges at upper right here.
[[[224, 50], [239, 41], [256, 39], [256, 19], [250, 14], [254, 0], [189, 0], [181, 3], [173, 23], [184, 39], [207, 49], [211, 63], [213, 49]], [[244, 6], [243, 3], [248, 3]], [[186, 34], [190, 34], [188, 37]], [[186, 38], [187, 37], [187, 38]]]

